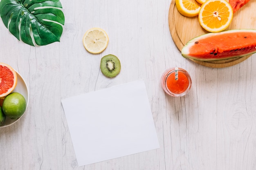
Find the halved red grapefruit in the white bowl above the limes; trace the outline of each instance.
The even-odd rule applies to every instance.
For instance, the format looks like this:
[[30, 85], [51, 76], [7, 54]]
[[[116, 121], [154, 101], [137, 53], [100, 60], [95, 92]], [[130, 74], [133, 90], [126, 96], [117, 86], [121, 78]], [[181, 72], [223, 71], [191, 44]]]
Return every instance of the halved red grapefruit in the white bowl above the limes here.
[[0, 63], [0, 97], [10, 94], [17, 85], [17, 74], [11, 66]]

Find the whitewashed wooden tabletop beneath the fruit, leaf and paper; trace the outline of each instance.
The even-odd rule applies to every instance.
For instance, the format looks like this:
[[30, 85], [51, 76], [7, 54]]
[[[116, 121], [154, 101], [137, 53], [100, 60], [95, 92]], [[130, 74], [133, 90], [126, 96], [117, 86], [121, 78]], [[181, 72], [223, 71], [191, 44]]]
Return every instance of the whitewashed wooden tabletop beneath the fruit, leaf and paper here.
[[[27, 82], [30, 102], [13, 126], [0, 128], [1, 170], [255, 170], [256, 56], [209, 68], [181, 56], [168, 27], [171, 0], [62, 0], [61, 42], [29, 46], [0, 21], [0, 62]], [[82, 37], [100, 27], [110, 38], [101, 54]], [[120, 74], [104, 77], [101, 57], [117, 55]], [[170, 67], [186, 69], [192, 88], [169, 97], [160, 86]], [[144, 79], [160, 148], [88, 166], [77, 165], [61, 99]]]

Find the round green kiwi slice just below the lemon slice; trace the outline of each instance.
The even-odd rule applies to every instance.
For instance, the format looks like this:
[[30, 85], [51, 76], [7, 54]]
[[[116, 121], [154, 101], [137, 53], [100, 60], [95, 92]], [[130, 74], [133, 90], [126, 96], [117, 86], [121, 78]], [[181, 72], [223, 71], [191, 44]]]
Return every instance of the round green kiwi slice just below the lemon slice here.
[[121, 63], [117, 56], [109, 54], [101, 58], [101, 72], [106, 77], [115, 77], [121, 70]]

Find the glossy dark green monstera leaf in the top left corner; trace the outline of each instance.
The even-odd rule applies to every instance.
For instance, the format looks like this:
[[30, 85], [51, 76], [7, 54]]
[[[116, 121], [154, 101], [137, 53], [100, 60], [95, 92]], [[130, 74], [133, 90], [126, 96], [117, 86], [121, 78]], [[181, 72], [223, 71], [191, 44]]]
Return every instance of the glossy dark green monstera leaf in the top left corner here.
[[1, 0], [0, 15], [7, 29], [26, 44], [60, 41], [65, 18], [59, 0]]

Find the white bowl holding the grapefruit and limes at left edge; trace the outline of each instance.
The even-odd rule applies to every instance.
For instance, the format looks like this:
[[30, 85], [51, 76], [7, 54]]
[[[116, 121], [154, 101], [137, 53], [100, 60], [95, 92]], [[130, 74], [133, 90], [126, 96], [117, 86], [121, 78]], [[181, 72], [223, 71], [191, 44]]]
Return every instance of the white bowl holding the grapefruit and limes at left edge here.
[[[27, 84], [26, 82], [24, 81], [23, 77], [16, 71], [17, 73], [17, 85], [16, 87], [14, 88], [13, 92], [18, 92], [20, 94], [22, 94], [25, 99], [26, 99], [26, 103], [27, 103], [27, 106], [29, 104], [29, 89], [27, 88]], [[26, 110], [27, 110], [27, 106], [26, 106]], [[26, 111], [25, 111], [26, 113]], [[24, 113], [24, 114], [25, 114]], [[23, 115], [24, 115], [23, 114]], [[22, 115], [22, 116], [23, 116]], [[21, 116], [21, 117], [22, 117]], [[15, 122], [17, 122], [21, 117], [19, 117], [18, 119], [10, 119], [9, 117], [6, 117], [6, 120], [4, 121], [4, 123], [0, 126], [0, 128], [3, 128], [3, 127], [6, 127], [6, 126], [10, 126], [12, 124], [14, 124]]]

